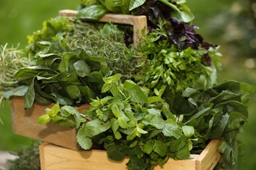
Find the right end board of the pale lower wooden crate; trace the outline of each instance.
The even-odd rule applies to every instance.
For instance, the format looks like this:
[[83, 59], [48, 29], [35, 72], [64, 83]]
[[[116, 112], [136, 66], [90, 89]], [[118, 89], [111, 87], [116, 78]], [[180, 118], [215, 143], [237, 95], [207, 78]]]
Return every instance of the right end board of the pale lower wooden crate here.
[[196, 169], [213, 169], [219, 160], [221, 160], [221, 154], [218, 151], [219, 140], [211, 140], [209, 144], [205, 147], [200, 156], [196, 159]]

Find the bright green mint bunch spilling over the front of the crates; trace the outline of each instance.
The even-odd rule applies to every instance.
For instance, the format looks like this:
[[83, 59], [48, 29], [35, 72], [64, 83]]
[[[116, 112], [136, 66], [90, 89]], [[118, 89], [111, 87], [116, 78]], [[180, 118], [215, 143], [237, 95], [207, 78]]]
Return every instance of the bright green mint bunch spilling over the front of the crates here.
[[[169, 158], [187, 159], [192, 150], [194, 127], [181, 121], [175, 122], [161, 93], [152, 97], [131, 80], [121, 84], [121, 75], [104, 78], [102, 93], [110, 93], [102, 99], [94, 99], [89, 110], [84, 110], [83, 120], [75, 114], [74, 125], [79, 127], [77, 142], [88, 150], [93, 141], [104, 144], [108, 157], [121, 161], [129, 156], [129, 169], [152, 169], [163, 165]], [[38, 122], [49, 121], [66, 124], [68, 116], [74, 114], [69, 107], [59, 109], [56, 104]], [[77, 111], [76, 111], [77, 112]]]

